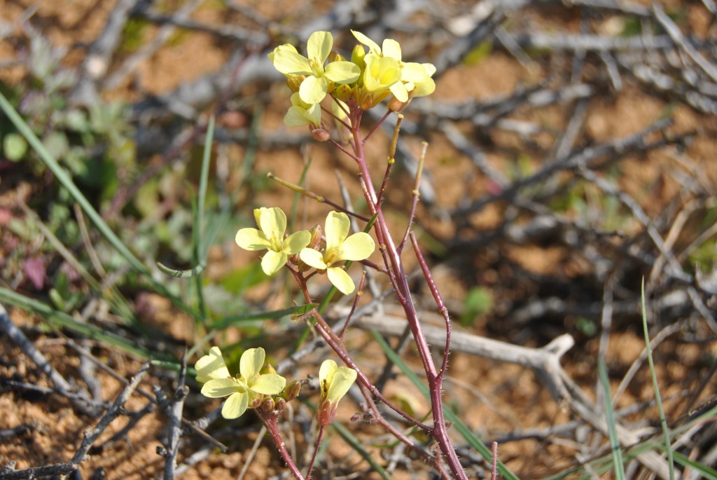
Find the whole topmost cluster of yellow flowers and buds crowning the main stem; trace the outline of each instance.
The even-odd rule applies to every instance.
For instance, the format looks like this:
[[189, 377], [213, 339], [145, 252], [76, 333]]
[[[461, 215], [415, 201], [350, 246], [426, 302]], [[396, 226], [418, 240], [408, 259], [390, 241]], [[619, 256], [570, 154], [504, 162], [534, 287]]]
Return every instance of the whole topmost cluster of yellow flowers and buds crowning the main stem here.
[[[330, 32], [311, 34], [306, 57], [290, 44], [280, 45], [269, 54], [274, 67], [286, 75], [287, 84], [294, 92], [284, 118], [287, 126], [322, 128], [319, 103], [326, 95], [336, 100], [337, 105], [368, 110], [390, 95], [399, 103], [406, 103], [411, 98], [433, 93], [435, 83], [431, 77], [435, 66], [403, 62], [401, 46], [393, 39], [385, 39], [379, 47], [361, 32], [352, 30], [351, 33], [361, 44], [354, 47], [350, 61], [332, 52]], [[364, 45], [369, 47], [369, 52]]]

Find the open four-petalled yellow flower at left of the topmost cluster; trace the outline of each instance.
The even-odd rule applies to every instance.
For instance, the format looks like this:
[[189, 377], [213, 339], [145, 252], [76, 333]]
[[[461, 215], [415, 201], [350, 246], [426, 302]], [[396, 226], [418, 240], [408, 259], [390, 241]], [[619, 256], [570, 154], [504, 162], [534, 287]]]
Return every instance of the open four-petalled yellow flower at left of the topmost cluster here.
[[319, 103], [328, 92], [328, 82], [352, 83], [359, 78], [361, 70], [351, 62], [331, 62], [326, 67], [333, 47], [329, 32], [313, 32], [306, 44], [308, 57], [300, 55], [290, 44], [276, 47], [269, 58], [274, 67], [287, 76], [304, 75], [299, 95], [305, 103]]

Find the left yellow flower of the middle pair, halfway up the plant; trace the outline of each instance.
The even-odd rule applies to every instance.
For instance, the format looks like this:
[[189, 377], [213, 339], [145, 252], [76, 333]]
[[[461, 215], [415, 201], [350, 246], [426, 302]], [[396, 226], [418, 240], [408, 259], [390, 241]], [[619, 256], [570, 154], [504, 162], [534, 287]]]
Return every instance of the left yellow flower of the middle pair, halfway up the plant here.
[[307, 230], [284, 238], [286, 214], [280, 208], [257, 208], [254, 210], [254, 218], [260, 230], [242, 228], [237, 232], [235, 240], [244, 250], [269, 250], [262, 258], [262, 270], [267, 275], [277, 273], [285, 265], [288, 255], [299, 253], [311, 240]]

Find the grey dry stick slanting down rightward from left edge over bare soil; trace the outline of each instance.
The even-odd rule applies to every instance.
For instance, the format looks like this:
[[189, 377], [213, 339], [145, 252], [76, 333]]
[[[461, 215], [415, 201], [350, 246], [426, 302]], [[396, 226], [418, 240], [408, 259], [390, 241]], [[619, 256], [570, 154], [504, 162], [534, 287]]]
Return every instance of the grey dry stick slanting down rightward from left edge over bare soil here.
[[60, 375], [60, 372], [54, 370], [52, 364], [47, 361], [44, 355], [35, 348], [27, 337], [25, 337], [22, 330], [19, 329], [10, 319], [5, 306], [1, 303], [0, 329], [2, 329], [8, 337], [10, 337], [10, 339], [22, 350], [25, 356], [37, 365], [37, 368], [39, 368], [44, 375], [47, 375], [49, 380], [52, 381], [54, 390], [57, 391], [57, 393], [68, 397], [72, 402], [72, 405], [81, 413], [92, 417], [99, 415], [103, 409], [103, 405], [101, 403], [95, 403], [86, 391], [73, 387], [70, 385], [70, 382], [65, 380], [65, 377]]

